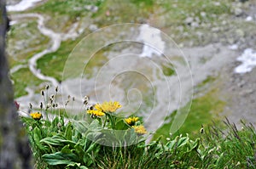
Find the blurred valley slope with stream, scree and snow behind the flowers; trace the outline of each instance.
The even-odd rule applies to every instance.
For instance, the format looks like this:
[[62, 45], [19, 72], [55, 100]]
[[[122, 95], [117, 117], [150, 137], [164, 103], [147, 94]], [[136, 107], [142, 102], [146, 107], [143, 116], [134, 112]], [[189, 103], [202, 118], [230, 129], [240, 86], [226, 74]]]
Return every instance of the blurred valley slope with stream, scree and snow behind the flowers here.
[[70, 115], [83, 113], [84, 95], [116, 100], [155, 137], [169, 135], [179, 112], [181, 133], [224, 116], [255, 125], [254, 0], [7, 0], [7, 10], [21, 115], [49, 84], [60, 103], [78, 101]]

